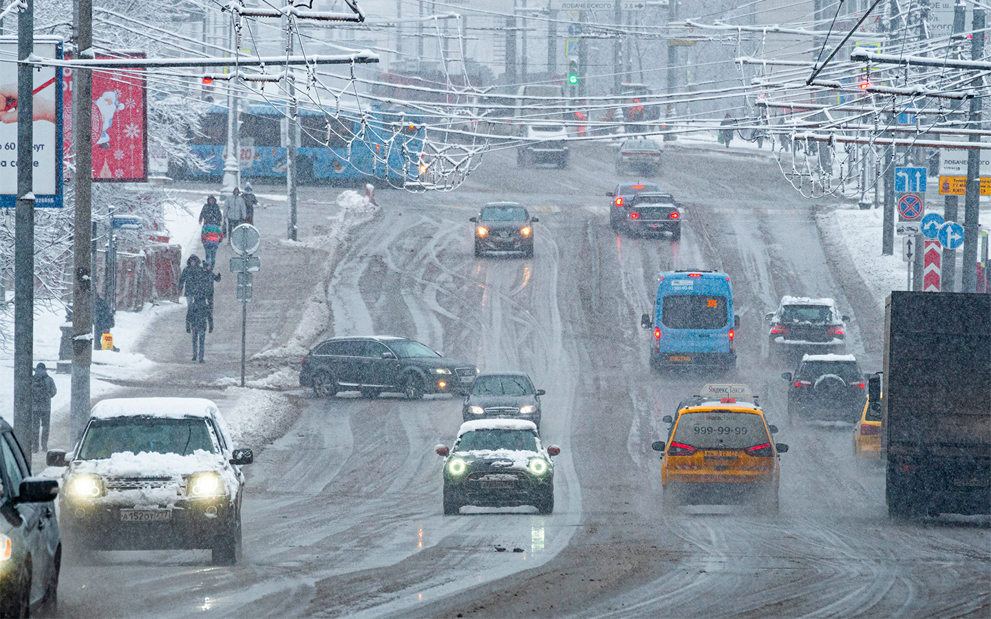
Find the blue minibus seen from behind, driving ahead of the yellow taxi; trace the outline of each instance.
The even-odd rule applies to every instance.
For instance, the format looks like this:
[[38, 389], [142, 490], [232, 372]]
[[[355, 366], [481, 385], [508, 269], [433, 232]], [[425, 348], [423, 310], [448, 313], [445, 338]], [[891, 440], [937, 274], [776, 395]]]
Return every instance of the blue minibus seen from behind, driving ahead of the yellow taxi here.
[[739, 318], [733, 315], [729, 275], [712, 270], [675, 270], [659, 277], [654, 313], [640, 318], [641, 327], [653, 330], [651, 365], [734, 368], [733, 338]]

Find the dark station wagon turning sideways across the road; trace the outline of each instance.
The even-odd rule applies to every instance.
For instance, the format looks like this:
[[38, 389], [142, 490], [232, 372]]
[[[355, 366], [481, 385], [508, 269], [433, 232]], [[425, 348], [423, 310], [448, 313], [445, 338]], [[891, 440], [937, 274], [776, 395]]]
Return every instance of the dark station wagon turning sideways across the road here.
[[303, 358], [299, 384], [318, 396], [361, 391], [364, 397], [378, 397], [391, 391], [415, 400], [425, 393], [463, 395], [478, 373], [471, 363], [446, 359], [406, 338], [332, 338]]

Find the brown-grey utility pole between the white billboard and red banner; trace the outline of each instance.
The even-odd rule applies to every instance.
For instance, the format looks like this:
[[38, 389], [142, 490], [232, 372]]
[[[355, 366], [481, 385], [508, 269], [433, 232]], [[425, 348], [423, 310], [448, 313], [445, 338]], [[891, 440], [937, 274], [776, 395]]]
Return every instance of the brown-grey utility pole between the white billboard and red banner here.
[[[75, 49], [80, 58], [93, 57], [93, 0], [77, 0]], [[93, 70], [73, 69], [72, 151], [75, 158], [75, 221], [72, 239], [72, 381], [69, 399], [69, 444], [82, 438], [89, 419], [89, 366], [93, 361], [93, 295], [96, 286], [96, 244], [93, 225], [92, 110]]]

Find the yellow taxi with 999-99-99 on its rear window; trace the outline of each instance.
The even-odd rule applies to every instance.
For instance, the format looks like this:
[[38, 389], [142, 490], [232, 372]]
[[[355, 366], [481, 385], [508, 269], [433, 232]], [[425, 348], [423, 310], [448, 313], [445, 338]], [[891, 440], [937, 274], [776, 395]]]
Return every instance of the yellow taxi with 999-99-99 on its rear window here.
[[778, 513], [778, 429], [764, 420], [757, 397], [745, 384], [707, 384], [683, 400], [672, 418], [667, 441], [652, 447], [662, 452], [663, 510], [686, 503], [750, 503]]

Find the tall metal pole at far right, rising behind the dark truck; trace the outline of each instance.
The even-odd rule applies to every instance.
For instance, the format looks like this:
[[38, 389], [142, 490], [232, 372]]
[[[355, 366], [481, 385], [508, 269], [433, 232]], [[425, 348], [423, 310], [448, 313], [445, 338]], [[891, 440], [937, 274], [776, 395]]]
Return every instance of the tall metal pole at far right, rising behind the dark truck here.
[[[970, 43], [970, 58], [978, 60], [984, 55], [984, 9], [974, 6], [971, 29], [974, 36]], [[984, 90], [983, 74], [978, 74], [976, 90]], [[970, 128], [981, 126], [981, 97], [970, 99]], [[980, 137], [971, 135], [968, 142], [980, 142]], [[963, 197], [963, 266], [960, 287], [963, 292], [977, 291], [977, 243], [980, 235], [978, 218], [981, 201], [981, 151], [967, 153], [967, 194]], [[950, 252], [953, 254], [954, 252]]]

